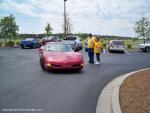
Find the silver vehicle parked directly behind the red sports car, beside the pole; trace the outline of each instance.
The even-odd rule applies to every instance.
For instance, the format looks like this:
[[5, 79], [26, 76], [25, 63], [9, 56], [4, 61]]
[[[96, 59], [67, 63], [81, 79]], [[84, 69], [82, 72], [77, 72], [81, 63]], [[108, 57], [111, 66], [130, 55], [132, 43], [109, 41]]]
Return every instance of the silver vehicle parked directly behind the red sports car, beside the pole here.
[[66, 36], [63, 39], [63, 42], [65, 44], [71, 45], [75, 51], [79, 51], [83, 48], [82, 47], [82, 39], [78, 36]]

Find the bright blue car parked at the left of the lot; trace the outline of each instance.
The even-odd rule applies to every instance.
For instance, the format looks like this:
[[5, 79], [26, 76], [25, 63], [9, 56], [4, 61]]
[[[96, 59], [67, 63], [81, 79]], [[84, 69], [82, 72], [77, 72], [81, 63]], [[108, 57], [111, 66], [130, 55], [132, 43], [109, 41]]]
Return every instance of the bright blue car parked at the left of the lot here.
[[21, 48], [30, 47], [30, 48], [38, 48], [40, 47], [40, 43], [36, 38], [26, 38], [20, 43]]

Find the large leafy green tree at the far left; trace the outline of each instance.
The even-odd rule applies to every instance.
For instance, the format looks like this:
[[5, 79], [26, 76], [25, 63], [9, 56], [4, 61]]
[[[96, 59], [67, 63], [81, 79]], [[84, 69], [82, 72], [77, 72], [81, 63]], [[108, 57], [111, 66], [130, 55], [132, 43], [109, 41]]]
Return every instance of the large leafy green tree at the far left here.
[[11, 42], [12, 38], [18, 35], [19, 26], [16, 24], [15, 17], [13, 15], [6, 16], [0, 19], [0, 34], [5, 38], [5, 44], [7, 38]]

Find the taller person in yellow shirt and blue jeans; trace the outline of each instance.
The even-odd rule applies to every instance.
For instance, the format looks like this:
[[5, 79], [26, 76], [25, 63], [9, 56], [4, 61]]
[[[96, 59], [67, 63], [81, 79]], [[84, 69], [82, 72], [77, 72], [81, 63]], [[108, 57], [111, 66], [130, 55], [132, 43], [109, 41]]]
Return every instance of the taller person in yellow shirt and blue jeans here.
[[95, 44], [95, 38], [92, 36], [92, 34], [89, 34], [88, 56], [89, 56], [89, 63], [91, 64], [94, 64], [94, 44]]

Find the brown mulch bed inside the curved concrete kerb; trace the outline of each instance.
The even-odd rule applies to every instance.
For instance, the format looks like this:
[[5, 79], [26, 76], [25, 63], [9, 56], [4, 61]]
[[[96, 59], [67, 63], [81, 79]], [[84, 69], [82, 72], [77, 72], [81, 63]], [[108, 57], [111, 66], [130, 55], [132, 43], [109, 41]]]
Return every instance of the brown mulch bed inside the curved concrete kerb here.
[[129, 76], [119, 97], [122, 113], [150, 113], [150, 70]]

